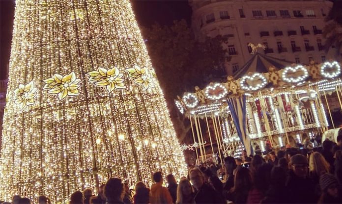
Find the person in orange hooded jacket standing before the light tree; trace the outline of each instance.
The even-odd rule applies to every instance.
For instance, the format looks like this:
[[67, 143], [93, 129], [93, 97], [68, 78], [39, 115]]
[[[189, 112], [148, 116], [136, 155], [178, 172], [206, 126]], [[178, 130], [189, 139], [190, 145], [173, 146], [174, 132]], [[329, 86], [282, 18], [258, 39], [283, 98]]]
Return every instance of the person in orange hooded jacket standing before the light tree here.
[[172, 197], [167, 188], [163, 185], [163, 176], [161, 172], [153, 174], [154, 184], [151, 186], [150, 203], [151, 204], [171, 204]]

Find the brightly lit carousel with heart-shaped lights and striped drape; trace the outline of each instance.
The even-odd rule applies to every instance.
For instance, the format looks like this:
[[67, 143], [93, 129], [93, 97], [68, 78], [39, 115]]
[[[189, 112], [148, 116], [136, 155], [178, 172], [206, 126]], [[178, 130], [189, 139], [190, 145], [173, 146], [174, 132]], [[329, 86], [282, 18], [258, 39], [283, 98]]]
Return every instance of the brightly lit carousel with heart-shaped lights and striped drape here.
[[235, 78], [195, 87], [175, 101], [192, 126], [194, 143], [183, 148], [194, 150], [198, 161], [215, 157], [222, 162], [243, 149], [249, 155], [294, 147], [333, 125], [328, 93], [337, 96], [342, 108], [336, 61], [300, 65], [256, 53], [241, 70]]

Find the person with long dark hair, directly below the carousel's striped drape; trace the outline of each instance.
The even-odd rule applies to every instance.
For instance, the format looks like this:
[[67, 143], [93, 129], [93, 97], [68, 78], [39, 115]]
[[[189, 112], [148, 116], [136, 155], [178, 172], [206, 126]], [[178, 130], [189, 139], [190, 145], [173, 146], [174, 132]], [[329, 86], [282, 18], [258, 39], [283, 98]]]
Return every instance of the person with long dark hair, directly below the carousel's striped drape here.
[[249, 191], [253, 186], [251, 171], [246, 167], [241, 167], [236, 171], [234, 187], [226, 195], [228, 201], [234, 204], [246, 204]]

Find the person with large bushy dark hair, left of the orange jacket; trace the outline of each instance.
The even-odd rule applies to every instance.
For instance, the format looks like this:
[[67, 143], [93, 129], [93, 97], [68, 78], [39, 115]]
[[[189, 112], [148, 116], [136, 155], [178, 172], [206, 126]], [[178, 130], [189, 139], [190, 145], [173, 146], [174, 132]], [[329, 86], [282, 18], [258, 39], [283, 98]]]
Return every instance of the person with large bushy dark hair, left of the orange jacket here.
[[123, 204], [123, 184], [120, 178], [110, 178], [105, 185], [106, 204]]

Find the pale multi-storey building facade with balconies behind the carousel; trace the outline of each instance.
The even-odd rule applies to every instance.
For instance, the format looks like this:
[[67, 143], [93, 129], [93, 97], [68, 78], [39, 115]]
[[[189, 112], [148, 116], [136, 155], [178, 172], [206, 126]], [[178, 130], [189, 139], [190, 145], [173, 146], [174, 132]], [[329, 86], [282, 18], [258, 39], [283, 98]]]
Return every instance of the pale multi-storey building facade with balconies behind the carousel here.
[[322, 29], [332, 7], [328, 0], [189, 0], [196, 37], [228, 37], [228, 75], [251, 59], [252, 44], [263, 44], [266, 55], [308, 64], [335, 59], [324, 51]]

